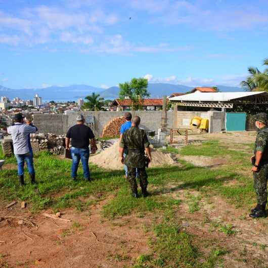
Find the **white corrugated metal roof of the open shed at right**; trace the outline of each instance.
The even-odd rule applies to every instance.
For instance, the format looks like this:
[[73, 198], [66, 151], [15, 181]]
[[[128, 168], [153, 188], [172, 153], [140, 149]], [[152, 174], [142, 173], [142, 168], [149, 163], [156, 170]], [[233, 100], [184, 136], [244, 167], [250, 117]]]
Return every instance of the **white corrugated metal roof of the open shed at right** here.
[[201, 101], [201, 102], [229, 102], [231, 100], [245, 98], [254, 95], [264, 94], [268, 96], [267, 92], [215, 92], [215, 93], [201, 93], [199, 91], [183, 96], [170, 98], [170, 101]]

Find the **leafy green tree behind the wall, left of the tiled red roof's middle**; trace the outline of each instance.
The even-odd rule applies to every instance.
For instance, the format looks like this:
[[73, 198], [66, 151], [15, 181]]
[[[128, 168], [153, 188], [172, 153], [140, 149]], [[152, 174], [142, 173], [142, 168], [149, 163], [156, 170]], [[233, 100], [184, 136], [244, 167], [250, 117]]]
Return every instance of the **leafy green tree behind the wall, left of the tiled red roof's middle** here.
[[140, 109], [140, 101], [150, 97], [148, 92], [148, 80], [145, 78], [132, 78], [130, 82], [119, 83], [119, 98], [130, 99], [132, 102], [131, 110]]

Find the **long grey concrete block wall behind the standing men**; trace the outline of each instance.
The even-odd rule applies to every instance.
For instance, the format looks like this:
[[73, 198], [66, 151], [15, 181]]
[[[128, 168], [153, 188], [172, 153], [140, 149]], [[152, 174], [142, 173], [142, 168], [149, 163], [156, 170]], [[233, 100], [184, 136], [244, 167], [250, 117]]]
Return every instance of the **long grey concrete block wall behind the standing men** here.
[[[161, 127], [162, 111], [131, 111], [132, 116], [141, 117], [141, 127], [147, 130], [155, 130]], [[35, 114], [34, 124], [38, 127], [39, 132], [50, 132], [57, 135], [63, 135], [69, 127], [76, 123], [76, 116], [82, 114], [84, 117], [93, 115], [95, 118], [95, 135], [100, 137], [103, 128], [113, 118], [124, 115], [123, 111], [104, 112], [104, 111], [88, 111], [88, 112], [69, 112], [68, 114]], [[173, 112], [167, 111], [167, 128], [173, 126]]]

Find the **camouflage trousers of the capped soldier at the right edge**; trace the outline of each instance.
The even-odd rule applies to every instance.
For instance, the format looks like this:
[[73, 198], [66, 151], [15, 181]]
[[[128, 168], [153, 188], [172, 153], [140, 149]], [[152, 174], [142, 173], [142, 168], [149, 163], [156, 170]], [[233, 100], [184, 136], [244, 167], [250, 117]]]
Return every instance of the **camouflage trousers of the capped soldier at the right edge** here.
[[264, 205], [267, 203], [268, 164], [261, 165], [258, 172], [253, 172], [253, 178], [258, 204]]

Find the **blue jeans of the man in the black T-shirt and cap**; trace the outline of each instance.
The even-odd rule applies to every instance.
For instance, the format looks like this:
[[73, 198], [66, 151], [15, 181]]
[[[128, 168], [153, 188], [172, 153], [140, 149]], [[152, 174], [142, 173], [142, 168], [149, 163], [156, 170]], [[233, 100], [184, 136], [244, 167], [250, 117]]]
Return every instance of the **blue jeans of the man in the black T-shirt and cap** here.
[[84, 178], [90, 178], [90, 167], [88, 167], [88, 159], [90, 158], [90, 149], [71, 148], [71, 155], [73, 159], [72, 164], [72, 178], [77, 177], [77, 169], [81, 159]]

